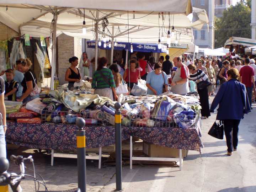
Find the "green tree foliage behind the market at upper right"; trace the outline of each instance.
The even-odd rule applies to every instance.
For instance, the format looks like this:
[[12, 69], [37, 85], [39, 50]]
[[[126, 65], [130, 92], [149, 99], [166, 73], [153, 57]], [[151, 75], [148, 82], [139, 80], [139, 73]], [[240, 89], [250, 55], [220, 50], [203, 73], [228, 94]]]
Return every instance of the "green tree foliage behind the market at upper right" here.
[[230, 37], [251, 38], [250, 3], [241, 1], [225, 10], [222, 17], [215, 17], [215, 48], [223, 47]]

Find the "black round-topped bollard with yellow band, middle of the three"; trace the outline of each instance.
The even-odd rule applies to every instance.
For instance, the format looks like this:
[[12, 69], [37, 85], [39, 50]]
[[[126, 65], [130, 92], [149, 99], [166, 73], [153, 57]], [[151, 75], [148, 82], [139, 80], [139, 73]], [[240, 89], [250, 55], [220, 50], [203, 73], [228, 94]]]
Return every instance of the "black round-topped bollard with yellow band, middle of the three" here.
[[81, 192], [86, 192], [86, 151], [85, 151], [85, 120], [81, 117], [76, 118], [76, 146], [78, 156], [78, 188]]

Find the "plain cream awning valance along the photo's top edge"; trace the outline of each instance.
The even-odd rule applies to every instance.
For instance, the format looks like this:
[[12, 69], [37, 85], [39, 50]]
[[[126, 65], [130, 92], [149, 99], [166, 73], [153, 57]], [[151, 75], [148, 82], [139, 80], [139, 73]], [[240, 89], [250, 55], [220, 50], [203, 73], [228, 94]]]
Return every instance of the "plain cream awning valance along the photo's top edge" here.
[[[172, 14], [192, 13], [191, 0], [0, 0], [0, 4], [11, 4], [10, 6], [21, 5], [46, 5], [59, 7], [85, 7], [87, 9], [102, 9], [114, 11], [148, 11], [155, 12], [170, 11]], [[175, 5], [175, 6], [174, 6]]]

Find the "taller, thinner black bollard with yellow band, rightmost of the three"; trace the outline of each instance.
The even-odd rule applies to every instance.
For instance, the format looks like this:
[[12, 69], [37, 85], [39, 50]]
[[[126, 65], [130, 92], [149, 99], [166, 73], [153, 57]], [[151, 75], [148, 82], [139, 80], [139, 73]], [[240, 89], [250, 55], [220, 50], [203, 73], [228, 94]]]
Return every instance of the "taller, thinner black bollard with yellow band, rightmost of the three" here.
[[116, 190], [122, 190], [122, 129], [121, 129], [121, 107], [115, 103], [115, 127], [116, 127]]

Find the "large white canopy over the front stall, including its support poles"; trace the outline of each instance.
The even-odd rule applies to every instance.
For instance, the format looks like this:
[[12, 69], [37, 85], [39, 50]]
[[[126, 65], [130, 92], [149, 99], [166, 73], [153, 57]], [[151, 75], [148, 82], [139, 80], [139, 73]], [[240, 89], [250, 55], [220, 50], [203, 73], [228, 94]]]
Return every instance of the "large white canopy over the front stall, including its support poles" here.
[[[176, 2], [177, 0], [174, 1]], [[22, 2], [18, 0], [0, 0], [0, 21], [17, 32], [20, 30], [21, 34], [30, 34], [31, 36], [37, 37], [52, 36], [53, 76], [56, 57], [55, 41], [58, 34], [61, 33], [70, 36], [95, 39], [96, 42], [100, 38], [98, 36], [104, 34], [106, 37], [111, 38], [113, 47], [115, 39], [117, 41], [127, 41], [128, 39], [128, 41], [133, 42], [158, 42], [159, 31], [160, 34], [163, 33], [163, 35], [166, 36], [169, 26], [171, 28], [174, 26], [175, 35], [171, 38], [171, 41], [175, 41], [177, 37], [179, 43], [193, 42], [191, 28], [194, 27], [200, 29], [205, 23], [208, 23], [207, 14], [204, 10], [197, 8], [193, 8], [192, 11], [190, 0], [178, 0], [176, 4], [174, 1], [165, 0], [161, 1], [161, 3], [158, 1], [154, 1], [153, 3], [152, 1], [150, 7], [158, 2], [157, 4], [161, 5], [154, 7], [154, 9], [162, 10], [150, 11], [151, 9], [149, 10], [149, 6], [146, 5], [150, 4], [148, 1], [137, 2], [134, 3], [134, 5], [131, 5], [132, 3], [129, 1], [129, 6], [127, 7], [124, 6], [127, 2], [123, 0], [118, 1], [116, 4], [114, 4], [116, 0], [104, 1], [102, 4], [100, 4], [99, 1], [97, 1], [97, 3], [95, 3], [95, 1], [89, 1], [87, 3], [86, 1], [86, 5], [84, 5], [86, 9], [84, 9], [78, 8], [83, 6], [83, 2], [78, 2], [78, 0], [69, 3], [62, 0], [49, 2], [49, 4], [48, 1], [42, 3], [48, 6], [36, 5], [37, 2], [33, 0], [24, 2], [29, 4], [21, 4]], [[103, 5], [104, 9], [96, 9], [102, 8]], [[166, 7], [162, 5], [169, 6], [170, 10], [166, 12]], [[77, 7], [71, 8], [63, 6]], [[106, 10], [110, 8], [109, 6], [111, 9]], [[132, 11], [124, 11], [123, 7]], [[134, 7], [137, 7], [137, 9]], [[172, 7], [175, 7], [175, 10]], [[85, 26], [87, 28], [87, 33], [85, 35], [81, 33], [84, 16], [86, 22]], [[105, 28], [105, 33], [103, 33], [103, 27], [101, 25], [103, 18], [107, 18], [108, 20], [108, 26]], [[97, 54], [96, 43], [95, 55]], [[97, 57], [95, 58], [97, 64]], [[51, 88], [52, 87], [53, 81], [51, 82]]]

